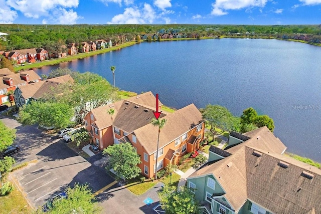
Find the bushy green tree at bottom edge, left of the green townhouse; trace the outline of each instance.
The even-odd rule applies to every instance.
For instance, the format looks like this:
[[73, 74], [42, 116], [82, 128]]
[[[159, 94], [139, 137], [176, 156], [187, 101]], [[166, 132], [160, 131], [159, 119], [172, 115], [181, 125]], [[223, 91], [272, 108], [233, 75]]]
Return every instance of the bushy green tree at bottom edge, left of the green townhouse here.
[[168, 214], [192, 214], [199, 212], [199, 202], [187, 187], [164, 186], [158, 192], [159, 202]]

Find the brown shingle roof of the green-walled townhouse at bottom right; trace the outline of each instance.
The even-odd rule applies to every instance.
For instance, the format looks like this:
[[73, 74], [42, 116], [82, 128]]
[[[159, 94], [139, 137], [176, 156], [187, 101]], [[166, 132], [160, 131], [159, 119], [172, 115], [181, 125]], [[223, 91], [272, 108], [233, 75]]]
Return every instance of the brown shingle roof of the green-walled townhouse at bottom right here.
[[[307, 213], [312, 208], [321, 213], [321, 170], [282, 155], [285, 146], [267, 130], [262, 127], [245, 133], [251, 139], [228, 149], [232, 155], [190, 177], [213, 174], [236, 211], [250, 199], [273, 213]], [[253, 155], [254, 151], [260, 156]], [[288, 167], [281, 167], [280, 161]], [[313, 178], [301, 176], [302, 171]]]

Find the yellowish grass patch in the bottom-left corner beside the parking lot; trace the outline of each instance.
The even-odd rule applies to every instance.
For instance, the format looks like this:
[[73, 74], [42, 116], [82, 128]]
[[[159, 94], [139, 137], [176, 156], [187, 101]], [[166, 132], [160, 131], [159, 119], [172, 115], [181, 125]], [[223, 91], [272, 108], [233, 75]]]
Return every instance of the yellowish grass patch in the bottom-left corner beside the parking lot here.
[[7, 213], [32, 213], [33, 209], [28, 205], [22, 193], [15, 189], [6, 196], [0, 196], [0, 214]]

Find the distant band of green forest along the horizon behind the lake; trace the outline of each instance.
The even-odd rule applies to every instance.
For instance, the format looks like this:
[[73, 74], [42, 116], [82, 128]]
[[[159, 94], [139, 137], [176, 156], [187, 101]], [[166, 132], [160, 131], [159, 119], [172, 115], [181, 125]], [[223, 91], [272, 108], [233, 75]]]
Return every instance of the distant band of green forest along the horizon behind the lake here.
[[0, 32], [8, 33], [0, 39], [0, 50], [46, 47], [62, 41], [65, 44], [115, 38], [124, 35], [133, 40], [137, 34], [198, 33], [200, 36], [247, 35], [281, 36], [283, 34], [320, 35], [318, 25], [0, 25]]

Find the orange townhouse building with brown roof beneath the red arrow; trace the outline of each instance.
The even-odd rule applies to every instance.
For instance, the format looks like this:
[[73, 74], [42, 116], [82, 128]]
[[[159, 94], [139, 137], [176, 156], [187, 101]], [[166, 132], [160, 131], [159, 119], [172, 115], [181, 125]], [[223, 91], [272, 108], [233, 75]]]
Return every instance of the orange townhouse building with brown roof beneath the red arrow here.
[[[138, 166], [142, 174], [149, 178], [154, 177], [156, 164], [158, 127], [150, 123], [154, 118], [155, 100], [151, 92], [146, 92], [92, 109], [85, 116], [85, 127], [99, 149], [120, 142], [131, 143], [141, 157]], [[158, 104], [162, 109], [163, 104]], [[110, 109], [114, 109], [113, 115], [108, 114]], [[182, 155], [199, 149], [205, 128], [202, 114], [194, 104], [174, 113], [163, 111], [160, 119], [167, 122], [159, 134], [157, 171], [169, 163], [178, 164]]]

